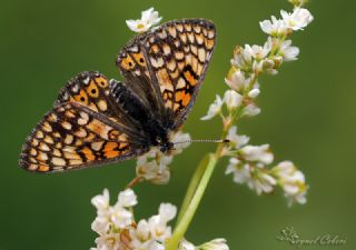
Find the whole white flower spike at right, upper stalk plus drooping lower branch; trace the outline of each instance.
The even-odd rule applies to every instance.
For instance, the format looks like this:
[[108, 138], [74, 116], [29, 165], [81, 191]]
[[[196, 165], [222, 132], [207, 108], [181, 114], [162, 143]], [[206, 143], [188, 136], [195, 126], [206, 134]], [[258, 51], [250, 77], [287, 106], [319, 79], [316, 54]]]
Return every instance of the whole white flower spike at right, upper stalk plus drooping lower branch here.
[[226, 173], [233, 173], [235, 182], [247, 183], [258, 194], [270, 193], [279, 186], [288, 204], [306, 202], [307, 184], [303, 172], [288, 161], [269, 168], [274, 160], [269, 146], [247, 144], [249, 138], [237, 134], [234, 122], [240, 117], [260, 113], [256, 98], [260, 93], [258, 78], [261, 73], [276, 74], [283, 62], [297, 60], [299, 49], [291, 46], [288, 38], [294, 31], [306, 28], [313, 21], [313, 16], [301, 8], [305, 1], [294, 0], [293, 3], [295, 8], [291, 13], [281, 10], [281, 19], [273, 16], [270, 20], [259, 23], [268, 34], [264, 46], [236, 47], [230, 61], [231, 69], [225, 79], [230, 89], [225, 92], [224, 98], [217, 94], [208, 113], [201, 118], [222, 118], [226, 137], [230, 140], [220, 153], [230, 157]]

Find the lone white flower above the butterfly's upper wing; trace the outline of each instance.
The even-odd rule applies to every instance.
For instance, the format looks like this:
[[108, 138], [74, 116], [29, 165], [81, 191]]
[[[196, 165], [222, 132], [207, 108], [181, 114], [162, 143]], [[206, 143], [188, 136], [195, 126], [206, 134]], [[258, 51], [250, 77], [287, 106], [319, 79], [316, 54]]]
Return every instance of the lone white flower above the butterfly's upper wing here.
[[152, 26], [159, 23], [161, 19], [162, 18], [158, 16], [158, 11], [155, 11], [154, 8], [150, 8], [141, 12], [141, 19], [126, 20], [126, 23], [130, 30], [141, 33], [149, 30]]

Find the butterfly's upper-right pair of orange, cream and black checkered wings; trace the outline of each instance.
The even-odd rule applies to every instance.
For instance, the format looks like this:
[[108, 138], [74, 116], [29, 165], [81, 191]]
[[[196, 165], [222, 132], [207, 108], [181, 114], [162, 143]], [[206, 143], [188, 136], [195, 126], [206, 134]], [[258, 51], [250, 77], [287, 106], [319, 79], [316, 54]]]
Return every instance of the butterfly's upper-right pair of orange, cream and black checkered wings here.
[[[169, 129], [175, 130], [185, 121], [196, 100], [215, 39], [216, 31], [210, 21], [170, 21], [135, 38], [119, 53], [117, 64], [131, 88], [154, 89], [151, 93], [156, 98], [152, 100], [160, 107], [158, 110], [164, 110], [160, 111], [161, 119], [171, 121]], [[145, 81], [136, 84], [142, 76]]]

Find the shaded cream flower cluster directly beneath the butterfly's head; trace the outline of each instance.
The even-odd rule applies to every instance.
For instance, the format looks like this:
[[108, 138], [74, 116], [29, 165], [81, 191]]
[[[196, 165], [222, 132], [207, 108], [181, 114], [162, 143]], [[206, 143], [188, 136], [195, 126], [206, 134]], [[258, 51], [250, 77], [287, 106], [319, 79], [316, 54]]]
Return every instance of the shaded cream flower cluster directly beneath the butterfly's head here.
[[179, 131], [170, 137], [175, 149], [169, 153], [162, 153], [160, 149], [152, 148], [148, 153], [139, 157], [136, 163], [137, 178], [155, 184], [166, 184], [170, 178], [168, 164], [172, 161], [174, 156], [181, 153], [190, 144], [190, 140], [189, 133]]

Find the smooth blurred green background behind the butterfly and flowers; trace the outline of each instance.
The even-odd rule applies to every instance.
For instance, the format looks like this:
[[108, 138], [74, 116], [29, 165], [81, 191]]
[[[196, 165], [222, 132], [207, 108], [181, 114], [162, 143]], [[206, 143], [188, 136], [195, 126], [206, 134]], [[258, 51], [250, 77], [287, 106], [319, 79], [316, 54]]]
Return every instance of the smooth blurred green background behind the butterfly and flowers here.
[[[90, 199], [108, 188], [116, 199], [135, 176], [135, 161], [106, 168], [41, 176], [21, 170], [24, 138], [49, 110], [57, 91], [76, 73], [99, 70], [121, 79], [118, 50], [134, 36], [125, 20], [155, 7], [164, 21], [207, 18], [218, 29], [218, 43], [205, 86], [186, 122], [196, 139], [217, 138], [218, 119], [199, 120], [216, 93], [235, 44], [263, 43], [258, 21], [290, 10], [287, 0], [56, 0], [3, 1], [0, 9], [1, 172], [0, 250], [78, 250], [93, 246]], [[315, 21], [297, 32], [300, 59], [284, 64], [276, 77], [261, 79], [260, 116], [245, 120], [240, 132], [251, 143], [270, 143], [276, 161], [290, 159], [310, 186], [305, 206], [287, 208], [283, 193], [257, 197], [225, 176], [220, 162], [187, 238], [195, 243], [224, 237], [230, 249], [294, 249], [276, 234], [294, 226], [303, 239], [330, 233], [355, 243], [355, 18], [354, 1], [316, 1], [307, 8]], [[178, 156], [164, 187], [137, 188], [138, 218], [157, 211], [161, 201], [180, 204], [194, 168], [214, 144], [192, 144]]]

